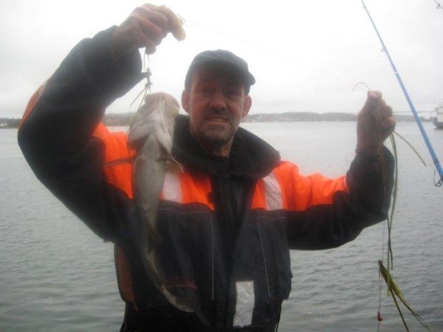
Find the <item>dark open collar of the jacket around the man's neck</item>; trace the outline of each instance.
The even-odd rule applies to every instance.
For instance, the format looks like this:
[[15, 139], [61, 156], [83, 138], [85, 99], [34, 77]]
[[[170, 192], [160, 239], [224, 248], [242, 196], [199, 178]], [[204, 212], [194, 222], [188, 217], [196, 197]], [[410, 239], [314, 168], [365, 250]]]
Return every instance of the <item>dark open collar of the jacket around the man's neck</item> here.
[[[208, 174], [217, 173], [214, 158], [201, 149], [189, 131], [189, 117], [177, 116], [175, 120], [172, 154], [180, 163], [197, 167]], [[246, 129], [235, 133], [229, 156], [229, 170], [235, 175], [263, 178], [280, 162], [280, 154], [271, 145]]]

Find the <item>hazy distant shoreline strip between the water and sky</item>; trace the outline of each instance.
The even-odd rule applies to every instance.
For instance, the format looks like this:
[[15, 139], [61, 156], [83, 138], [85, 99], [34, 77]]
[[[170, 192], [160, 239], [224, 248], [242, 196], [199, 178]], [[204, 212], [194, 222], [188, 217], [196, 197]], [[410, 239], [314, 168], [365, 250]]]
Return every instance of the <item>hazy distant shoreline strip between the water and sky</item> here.
[[[103, 117], [107, 126], [128, 126], [134, 113], [109, 113]], [[413, 116], [396, 115], [397, 121], [414, 122]], [[307, 122], [307, 121], [356, 121], [356, 114], [350, 113], [313, 113], [313, 112], [287, 112], [287, 113], [257, 113], [246, 116], [242, 122]], [[423, 122], [431, 120], [421, 118]], [[18, 128], [21, 119], [0, 118], [0, 129]]]

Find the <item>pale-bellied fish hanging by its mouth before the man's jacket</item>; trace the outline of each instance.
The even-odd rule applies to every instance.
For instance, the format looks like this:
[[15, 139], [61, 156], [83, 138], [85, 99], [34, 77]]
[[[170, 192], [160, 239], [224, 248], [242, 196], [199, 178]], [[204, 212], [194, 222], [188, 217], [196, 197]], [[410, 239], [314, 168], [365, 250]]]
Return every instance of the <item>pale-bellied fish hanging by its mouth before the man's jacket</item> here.
[[[137, 223], [138, 246], [143, 265], [154, 286], [168, 302], [181, 311], [195, 312], [196, 299], [184, 299], [172, 294], [165, 285], [156, 263], [156, 248], [161, 244], [158, 232], [159, 202], [165, 172], [181, 172], [183, 168], [172, 156], [174, 118], [180, 105], [168, 93], [147, 95], [127, 132], [127, 144], [136, 151], [133, 161], [133, 192]], [[178, 169], [178, 171], [177, 171]]]

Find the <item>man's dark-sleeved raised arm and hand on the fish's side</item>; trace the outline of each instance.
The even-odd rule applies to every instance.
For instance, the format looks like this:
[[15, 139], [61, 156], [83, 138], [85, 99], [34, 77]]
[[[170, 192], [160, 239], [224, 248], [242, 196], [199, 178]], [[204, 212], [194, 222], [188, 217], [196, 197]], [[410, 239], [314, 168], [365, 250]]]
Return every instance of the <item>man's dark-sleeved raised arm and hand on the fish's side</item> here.
[[104, 239], [116, 230], [104, 208], [114, 190], [103, 181], [105, 149], [125, 145], [125, 136], [105, 145], [106, 129], [97, 127], [109, 104], [141, 80], [138, 48], [153, 53], [170, 32], [184, 37], [179, 19], [146, 4], [120, 26], [83, 39], [33, 95], [21, 122], [19, 145], [37, 178]]

